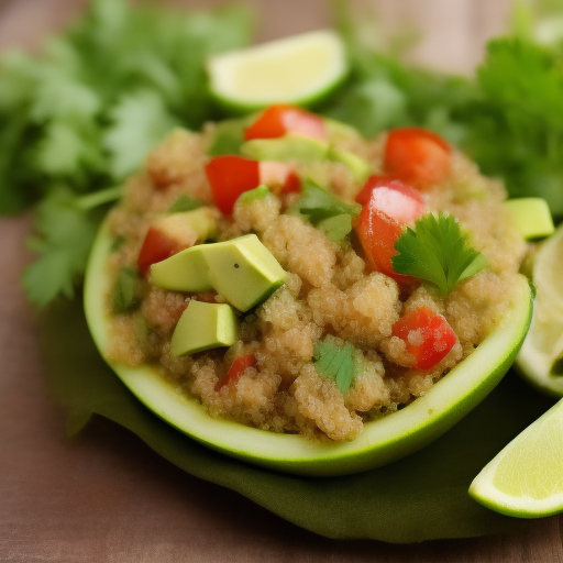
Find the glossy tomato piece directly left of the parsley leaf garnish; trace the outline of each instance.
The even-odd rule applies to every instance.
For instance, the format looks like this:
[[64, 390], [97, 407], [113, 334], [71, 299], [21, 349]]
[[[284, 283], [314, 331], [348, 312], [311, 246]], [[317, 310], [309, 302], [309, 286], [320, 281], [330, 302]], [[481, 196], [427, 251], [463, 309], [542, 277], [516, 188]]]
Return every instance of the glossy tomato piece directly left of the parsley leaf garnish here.
[[356, 197], [364, 201], [354, 229], [372, 269], [383, 272], [399, 283], [413, 278], [397, 274], [391, 258], [397, 254], [395, 243], [408, 224], [424, 212], [424, 200], [415, 188], [399, 180], [372, 176]]

